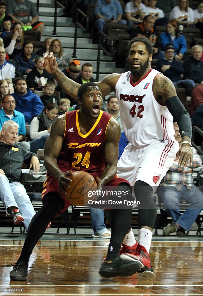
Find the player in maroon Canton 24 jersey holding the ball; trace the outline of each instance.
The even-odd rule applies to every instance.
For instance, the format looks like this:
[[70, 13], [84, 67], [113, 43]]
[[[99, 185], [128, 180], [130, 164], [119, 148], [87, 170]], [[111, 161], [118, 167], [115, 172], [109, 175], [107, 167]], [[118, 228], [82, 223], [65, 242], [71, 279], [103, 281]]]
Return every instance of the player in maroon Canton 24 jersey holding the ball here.
[[[94, 82], [84, 83], [78, 90], [78, 100], [80, 110], [66, 112], [52, 124], [44, 151], [48, 178], [42, 192], [43, 206], [30, 223], [20, 258], [10, 272], [11, 280], [26, 279], [30, 255], [48, 222], [70, 206], [61, 193], [71, 182], [69, 176], [73, 171], [90, 173], [99, 188], [116, 186], [119, 191], [129, 192], [130, 189], [131, 192], [125, 179], [115, 177], [121, 131], [117, 121], [100, 110], [103, 100], [99, 87]], [[134, 200], [131, 194], [129, 198]], [[114, 209], [111, 213], [111, 240], [100, 275], [130, 276], [143, 268], [139, 261], [119, 257], [121, 243], [130, 227], [132, 209]]]

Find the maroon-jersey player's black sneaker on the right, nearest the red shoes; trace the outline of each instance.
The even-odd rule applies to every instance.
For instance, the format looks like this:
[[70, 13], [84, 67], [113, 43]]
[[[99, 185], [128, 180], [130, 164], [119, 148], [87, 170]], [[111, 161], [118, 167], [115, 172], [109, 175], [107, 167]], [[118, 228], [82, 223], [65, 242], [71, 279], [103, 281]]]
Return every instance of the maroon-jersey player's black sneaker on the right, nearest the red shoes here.
[[143, 268], [143, 264], [139, 261], [114, 257], [109, 261], [102, 262], [99, 274], [106, 278], [113, 276], [132, 276], [132, 274], [138, 272], [140, 268]]

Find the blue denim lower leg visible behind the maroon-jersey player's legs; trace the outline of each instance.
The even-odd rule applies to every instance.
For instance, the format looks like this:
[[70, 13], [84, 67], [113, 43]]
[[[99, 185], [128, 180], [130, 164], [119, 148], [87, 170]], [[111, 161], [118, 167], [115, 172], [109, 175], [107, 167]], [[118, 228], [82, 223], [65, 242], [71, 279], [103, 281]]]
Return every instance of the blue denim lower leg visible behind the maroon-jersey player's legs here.
[[106, 225], [104, 224], [104, 210], [89, 207], [89, 212], [91, 215], [92, 229], [94, 234], [100, 235], [104, 231], [107, 231]]

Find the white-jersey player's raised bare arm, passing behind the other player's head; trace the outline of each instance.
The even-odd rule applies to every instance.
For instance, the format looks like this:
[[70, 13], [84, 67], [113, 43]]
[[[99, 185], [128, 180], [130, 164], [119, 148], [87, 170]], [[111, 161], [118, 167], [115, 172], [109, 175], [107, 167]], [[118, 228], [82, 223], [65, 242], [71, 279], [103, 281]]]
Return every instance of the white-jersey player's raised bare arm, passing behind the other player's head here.
[[[62, 87], [62, 89], [74, 99], [77, 99], [77, 92], [80, 84], [66, 77], [58, 69], [56, 57], [53, 56], [52, 52], [50, 52], [48, 55], [44, 55], [43, 65], [44, 69], [54, 76], [57, 83]], [[115, 91], [115, 85], [120, 76], [121, 74], [110, 74], [104, 77], [101, 81], [97, 82], [103, 96], [107, 96], [112, 91]]]

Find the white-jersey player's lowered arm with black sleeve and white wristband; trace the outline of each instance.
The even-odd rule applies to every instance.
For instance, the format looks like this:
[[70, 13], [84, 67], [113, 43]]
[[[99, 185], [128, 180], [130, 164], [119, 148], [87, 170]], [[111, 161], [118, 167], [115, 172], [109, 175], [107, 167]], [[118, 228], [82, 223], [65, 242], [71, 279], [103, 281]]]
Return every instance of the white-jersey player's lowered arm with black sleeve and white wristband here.
[[192, 125], [190, 115], [180, 102], [174, 84], [162, 74], [156, 75], [153, 82], [153, 93], [157, 102], [165, 104], [177, 121], [182, 136], [182, 145], [175, 160], [179, 158], [180, 167], [186, 168], [188, 160], [192, 163], [191, 137]]

